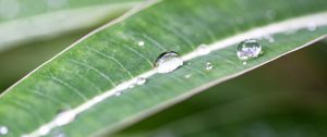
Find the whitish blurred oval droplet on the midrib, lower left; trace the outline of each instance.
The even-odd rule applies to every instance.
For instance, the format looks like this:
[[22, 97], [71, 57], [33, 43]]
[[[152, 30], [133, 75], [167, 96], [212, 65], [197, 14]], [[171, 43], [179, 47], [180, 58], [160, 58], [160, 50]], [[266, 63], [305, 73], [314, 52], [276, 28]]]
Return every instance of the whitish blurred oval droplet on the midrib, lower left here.
[[62, 125], [73, 122], [75, 120], [75, 117], [76, 117], [76, 113], [74, 111], [71, 111], [71, 110], [63, 111], [57, 115], [57, 117], [55, 119], [55, 123], [58, 126], [62, 126]]

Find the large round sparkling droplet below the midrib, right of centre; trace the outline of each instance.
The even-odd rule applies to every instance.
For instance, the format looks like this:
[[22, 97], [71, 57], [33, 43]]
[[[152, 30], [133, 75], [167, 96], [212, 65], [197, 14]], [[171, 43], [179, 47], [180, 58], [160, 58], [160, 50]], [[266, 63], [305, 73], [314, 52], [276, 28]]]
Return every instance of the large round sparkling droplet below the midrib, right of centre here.
[[262, 52], [262, 46], [255, 39], [246, 39], [238, 46], [237, 54], [241, 60], [257, 58]]

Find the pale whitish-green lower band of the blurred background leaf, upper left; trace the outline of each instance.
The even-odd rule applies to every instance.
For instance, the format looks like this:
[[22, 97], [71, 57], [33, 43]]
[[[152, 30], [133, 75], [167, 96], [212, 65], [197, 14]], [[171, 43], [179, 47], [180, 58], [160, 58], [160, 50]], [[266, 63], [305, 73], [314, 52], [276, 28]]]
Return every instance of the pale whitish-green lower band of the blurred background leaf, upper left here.
[[92, 27], [138, 4], [136, 1], [74, 8], [0, 23], [0, 52], [20, 42]]

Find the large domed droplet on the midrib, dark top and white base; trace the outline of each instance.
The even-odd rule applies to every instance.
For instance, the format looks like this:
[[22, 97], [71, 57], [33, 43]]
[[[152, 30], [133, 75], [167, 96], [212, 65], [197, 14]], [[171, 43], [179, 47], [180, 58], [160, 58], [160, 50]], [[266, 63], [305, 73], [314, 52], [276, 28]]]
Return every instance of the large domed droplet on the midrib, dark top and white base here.
[[170, 73], [183, 65], [183, 60], [173, 51], [161, 53], [156, 64], [158, 73]]

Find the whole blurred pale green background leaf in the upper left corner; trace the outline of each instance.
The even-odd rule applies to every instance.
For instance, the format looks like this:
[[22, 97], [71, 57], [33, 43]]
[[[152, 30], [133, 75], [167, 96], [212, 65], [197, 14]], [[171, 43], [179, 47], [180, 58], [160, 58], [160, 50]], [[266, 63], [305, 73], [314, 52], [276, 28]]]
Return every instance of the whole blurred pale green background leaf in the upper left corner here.
[[1, 0], [0, 51], [17, 43], [88, 28], [141, 0]]

